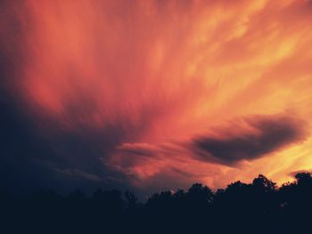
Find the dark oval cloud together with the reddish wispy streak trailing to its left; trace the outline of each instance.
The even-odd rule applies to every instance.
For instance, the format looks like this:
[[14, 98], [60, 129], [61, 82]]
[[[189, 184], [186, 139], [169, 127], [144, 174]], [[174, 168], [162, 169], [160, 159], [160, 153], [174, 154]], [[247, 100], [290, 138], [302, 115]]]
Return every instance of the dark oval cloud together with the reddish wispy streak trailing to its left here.
[[194, 172], [185, 165], [237, 166], [242, 160], [264, 157], [305, 140], [307, 128], [305, 121], [289, 114], [234, 118], [226, 126], [210, 128], [209, 133], [191, 140], [122, 143], [109, 165], [137, 182], [154, 182], [160, 173], [176, 174], [187, 181]]

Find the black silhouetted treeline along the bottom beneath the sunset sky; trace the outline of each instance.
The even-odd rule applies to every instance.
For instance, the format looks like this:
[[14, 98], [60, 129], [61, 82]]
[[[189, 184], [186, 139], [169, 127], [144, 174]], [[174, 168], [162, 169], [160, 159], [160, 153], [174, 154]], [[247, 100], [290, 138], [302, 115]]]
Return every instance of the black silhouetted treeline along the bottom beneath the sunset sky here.
[[41, 190], [29, 197], [0, 194], [2, 233], [310, 233], [312, 176], [297, 173], [278, 188], [260, 174], [213, 192], [155, 193], [145, 203], [119, 190], [61, 196]]

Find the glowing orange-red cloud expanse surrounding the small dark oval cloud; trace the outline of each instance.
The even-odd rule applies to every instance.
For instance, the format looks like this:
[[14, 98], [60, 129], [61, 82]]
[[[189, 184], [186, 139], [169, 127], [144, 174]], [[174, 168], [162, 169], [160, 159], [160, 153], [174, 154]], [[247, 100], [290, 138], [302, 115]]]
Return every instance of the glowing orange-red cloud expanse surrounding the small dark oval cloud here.
[[[254, 173], [284, 182], [289, 171], [311, 168], [306, 135], [237, 167], [199, 161], [172, 143], [235, 117], [285, 113], [309, 122], [310, 1], [29, 0], [19, 7], [21, 100], [34, 117], [67, 133], [110, 129], [118, 140], [99, 157], [135, 185], [175, 178], [170, 184], [219, 186]], [[263, 134], [261, 148], [271, 136]], [[214, 157], [234, 155], [220, 150]]]

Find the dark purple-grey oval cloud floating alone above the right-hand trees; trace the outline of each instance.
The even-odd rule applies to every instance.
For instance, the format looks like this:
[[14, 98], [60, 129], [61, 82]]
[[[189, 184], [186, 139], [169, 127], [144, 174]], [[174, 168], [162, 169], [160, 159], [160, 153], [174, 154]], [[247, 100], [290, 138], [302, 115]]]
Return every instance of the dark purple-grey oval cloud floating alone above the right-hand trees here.
[[[305, 122], [294, 117], [254, 116], [230, 126], [234, 133], [195, 137], [192, 149], [201, 159], [231, 165], [263, 157], [307, 136]], [[233, 129], [234, 128], [234, 129]]]

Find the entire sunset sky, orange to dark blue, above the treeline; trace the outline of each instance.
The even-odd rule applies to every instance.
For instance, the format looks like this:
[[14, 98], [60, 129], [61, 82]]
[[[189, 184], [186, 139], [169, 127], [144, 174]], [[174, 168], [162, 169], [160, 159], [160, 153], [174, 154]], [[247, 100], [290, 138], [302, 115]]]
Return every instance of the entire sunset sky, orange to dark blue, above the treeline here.
[[312, 168], [312, 1], [0, 1], [4, 190], [212, 189]]

